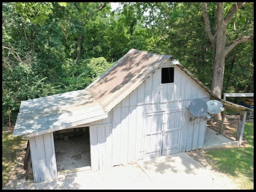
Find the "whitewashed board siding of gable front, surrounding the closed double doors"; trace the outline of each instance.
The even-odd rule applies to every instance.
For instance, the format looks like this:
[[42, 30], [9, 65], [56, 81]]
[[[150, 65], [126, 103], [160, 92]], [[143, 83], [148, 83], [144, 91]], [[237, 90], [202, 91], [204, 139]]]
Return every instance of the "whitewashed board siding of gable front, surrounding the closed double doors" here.
[[[166, 62], [162, 66], [171, 65]], [[175, 65], [173, 67], [174, 83], [161, 85], [160, 67], [116, 105], [108, 113], [107, 119], [92, 123], [92, 170], [126, 165], [144, 158], [144, 114], [147, 111], [184, 108], [180, 152], [203, 147], [206, 120], [196, 118], [189, 121], [193, 116], [190, 115], [188, 106], [194, 99], [203, 99], [207, 102], [210, 95], [180, 68]]]

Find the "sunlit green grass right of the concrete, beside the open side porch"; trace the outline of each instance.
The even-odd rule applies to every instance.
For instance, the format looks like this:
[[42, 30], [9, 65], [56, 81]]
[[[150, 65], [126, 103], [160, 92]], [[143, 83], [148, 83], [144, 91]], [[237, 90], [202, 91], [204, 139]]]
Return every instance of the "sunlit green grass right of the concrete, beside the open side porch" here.
[[234, 178], [241, 189], [254, 189], [253, 128], [253, 123], [245, 123], [243, 140], [247, 140], [248, 146], [212, 150], [206, 153], [212, 167]]

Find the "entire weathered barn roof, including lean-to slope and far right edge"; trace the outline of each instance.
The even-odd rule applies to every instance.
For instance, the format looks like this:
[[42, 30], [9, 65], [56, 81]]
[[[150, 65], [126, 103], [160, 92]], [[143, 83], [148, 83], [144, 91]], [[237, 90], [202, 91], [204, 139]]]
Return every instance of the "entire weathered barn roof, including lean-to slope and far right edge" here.
[[[131, 49], [84, 90], [22, 101], [13, 136], [36, 136], [107, 118], [114, 106], [169, 59], [173, 57]], [[249, 109], [218, 98], [182, 64], [177, 66], [206, 90], [210, 99]]]

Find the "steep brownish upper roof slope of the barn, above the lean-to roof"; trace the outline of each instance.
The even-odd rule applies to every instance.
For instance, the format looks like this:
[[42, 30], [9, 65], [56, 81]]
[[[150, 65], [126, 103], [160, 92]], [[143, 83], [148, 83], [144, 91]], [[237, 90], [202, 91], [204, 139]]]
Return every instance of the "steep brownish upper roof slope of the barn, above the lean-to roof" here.
[[171, 55], [131, 49], [86, 89], [109, 112], [170, 58]]

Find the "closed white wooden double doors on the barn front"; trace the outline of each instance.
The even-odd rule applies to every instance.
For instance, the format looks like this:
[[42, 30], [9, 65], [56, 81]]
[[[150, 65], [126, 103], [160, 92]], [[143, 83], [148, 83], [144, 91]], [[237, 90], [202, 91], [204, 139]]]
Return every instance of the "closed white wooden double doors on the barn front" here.
[[144, 159], [180, 152], [183, 109], [147, 113]]

